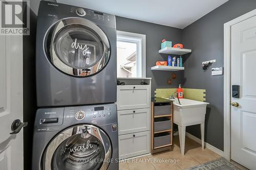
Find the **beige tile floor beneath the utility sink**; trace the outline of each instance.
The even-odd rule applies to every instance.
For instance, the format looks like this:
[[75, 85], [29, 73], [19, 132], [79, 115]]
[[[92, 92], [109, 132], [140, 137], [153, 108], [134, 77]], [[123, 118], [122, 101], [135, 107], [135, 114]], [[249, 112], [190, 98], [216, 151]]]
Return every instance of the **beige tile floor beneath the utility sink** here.
[[174, 145], [170, 151], [121, 161], [119, 170], [181, 170], [221, 157], [206, 148], [202, 150], [199, 143], [189, 138], [186, 138], [184, 156], [180, 154], [179, 146], [179, 136], [174, 136]]

